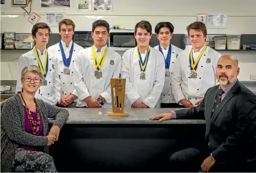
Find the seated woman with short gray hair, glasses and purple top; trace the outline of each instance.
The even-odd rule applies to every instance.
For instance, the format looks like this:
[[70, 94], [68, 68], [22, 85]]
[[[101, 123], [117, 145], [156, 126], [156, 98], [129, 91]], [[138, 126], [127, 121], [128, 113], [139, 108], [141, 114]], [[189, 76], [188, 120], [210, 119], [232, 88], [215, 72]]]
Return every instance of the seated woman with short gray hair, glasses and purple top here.
[[[22, 92], [9, 98], [1, 112], [1, 172], [56, 172], [49, 146], [58, 141], [69, 113], [35, 99], [44, 76], [38, 66], [22, 70]], [[48, 133], [48, 118], [55, 118]]]

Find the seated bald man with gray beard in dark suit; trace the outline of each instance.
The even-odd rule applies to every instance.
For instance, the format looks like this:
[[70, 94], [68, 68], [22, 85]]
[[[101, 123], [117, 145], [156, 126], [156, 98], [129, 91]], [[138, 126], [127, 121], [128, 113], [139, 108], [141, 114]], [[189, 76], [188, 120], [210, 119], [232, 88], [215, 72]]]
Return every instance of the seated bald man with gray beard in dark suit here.
[[170, 158], [172, 171], [255, 172], [256, 95], [240, 84], [238, 60], [223, 55], [217, 63], [220, 85], [205, 93], [198, 107], [159, 114], [150, 119], [205, 119], [205, 148], [187, 148]]

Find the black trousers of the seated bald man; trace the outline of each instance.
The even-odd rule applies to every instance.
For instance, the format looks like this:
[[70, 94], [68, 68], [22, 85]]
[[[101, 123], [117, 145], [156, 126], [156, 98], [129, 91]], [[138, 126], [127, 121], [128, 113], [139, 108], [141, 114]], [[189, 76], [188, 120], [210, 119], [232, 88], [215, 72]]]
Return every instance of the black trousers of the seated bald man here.
[[[202, 162], [209, 157], [209, 149], [187, 148], [171, 155], [170, 172], [198, 172], [201, 171]], [[239, 158], [239, 156], [238, 156]], [[218, 162], [210, 168], [209, 172], [248, 172], [244, 164], [237, 161]]]

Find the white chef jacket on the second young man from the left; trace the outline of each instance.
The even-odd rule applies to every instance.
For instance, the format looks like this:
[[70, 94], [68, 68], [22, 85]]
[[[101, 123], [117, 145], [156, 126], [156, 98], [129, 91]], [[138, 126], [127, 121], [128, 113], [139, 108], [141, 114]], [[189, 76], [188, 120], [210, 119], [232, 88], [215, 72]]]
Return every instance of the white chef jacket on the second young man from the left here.
[[[62, 47], [64, 49], [64, 53], [66, 55], [66, 58], [69, 58], [69, 52], [72, 46], [72, 42], [69, 42], [68, 48], [66, 47], [66, 44], [64, 41], [61, 40]], [[78, 57], [78, 52], [81, 51], [82, 46], [79, 46], [74, 43], [74, 49], [73, 49], [73, 54], [71, 58], [71, 62], [69, 67], [64, 65], [62, 55], [61, 55], [61, 48], [59, 48], [59, 42], [55, 45], [52, 45], [48, 48], [48, 53], [51, 55], [55, 55], [57, 58], [57, 62], [59, 64], [59, 76], [61, 78], [61, 96], [67, 97], [70, 94], [74, 94], [78, 97], [77, 91], [75, 90], [75, 85], [74, 85], [74, 61]], [[70, 75], [64, 74], [64, 69], [69, 69], [70, 70]], [[74, 100], [74, 102], [77, 102], [77, 99]]]

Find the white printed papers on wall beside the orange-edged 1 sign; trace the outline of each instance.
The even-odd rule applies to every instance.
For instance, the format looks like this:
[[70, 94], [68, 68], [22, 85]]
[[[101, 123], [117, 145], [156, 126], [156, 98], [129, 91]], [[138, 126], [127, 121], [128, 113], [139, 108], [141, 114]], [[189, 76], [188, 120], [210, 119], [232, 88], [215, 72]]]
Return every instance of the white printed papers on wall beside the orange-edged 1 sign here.
[[224, 14], [208, 14], [207, 28], [225, 29], [227, 27], [228, 15]]

